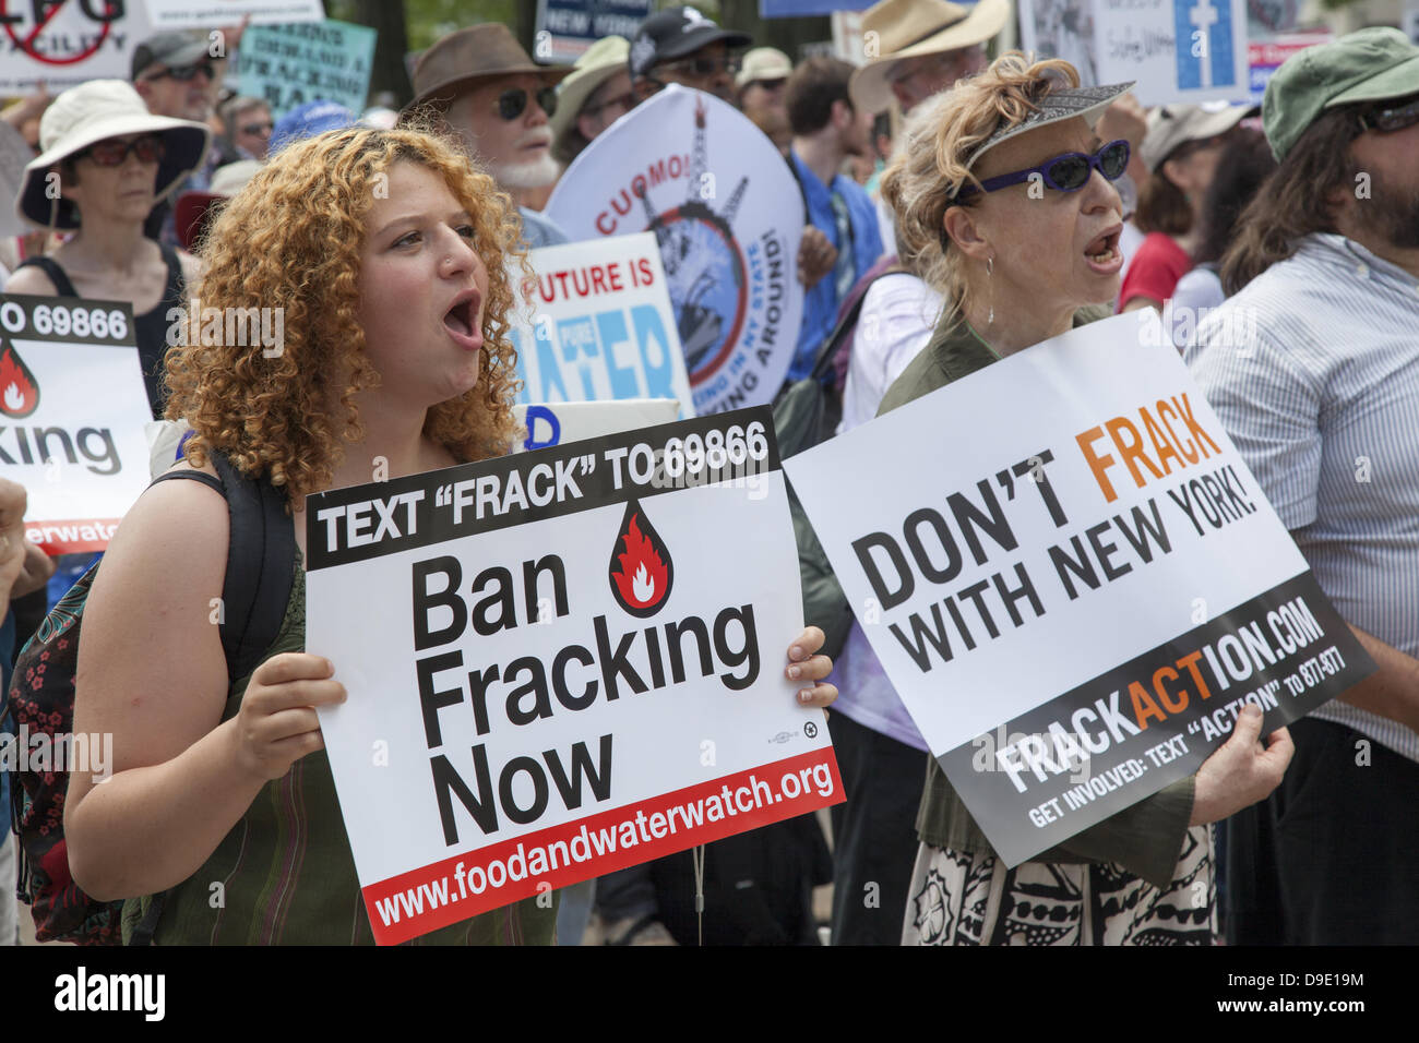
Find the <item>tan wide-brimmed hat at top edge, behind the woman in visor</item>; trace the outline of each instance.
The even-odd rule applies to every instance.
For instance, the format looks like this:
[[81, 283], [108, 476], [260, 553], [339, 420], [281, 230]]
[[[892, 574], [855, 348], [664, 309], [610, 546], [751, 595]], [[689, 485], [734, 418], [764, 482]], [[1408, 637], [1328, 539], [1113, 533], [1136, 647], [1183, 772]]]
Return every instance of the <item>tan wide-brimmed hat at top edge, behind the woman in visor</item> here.
[[[973, 7], [949, 0], [881, 0], [863, 13], [863, 35], [877, 45], [877, 57], [849, 81], [853, 105], [881, 112], [891, 102], [887, 72], [902, 58], [956, 51], [983, 44], [1005, 28], [1010, 0], [979, 0]], [[867, 35], [874, 33], [876, 37]]]

